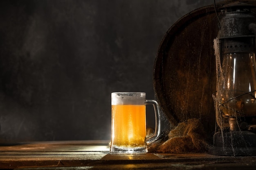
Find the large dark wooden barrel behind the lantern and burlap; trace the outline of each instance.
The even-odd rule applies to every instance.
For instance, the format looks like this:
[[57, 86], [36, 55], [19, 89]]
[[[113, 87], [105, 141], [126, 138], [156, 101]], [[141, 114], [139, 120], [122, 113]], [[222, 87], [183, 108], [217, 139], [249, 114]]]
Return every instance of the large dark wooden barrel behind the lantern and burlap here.
[[[218, 3], [217, 9], [231, 2], [234, 0]], [[246, 3], [256, 5], [255, 0]], [[213, 39], [218, 31], [213, 5], [182, 17], [164, 35], [153, 75], [156, 98], [171, 125], [198, 118], [210, 138], [216, 124], [212, 97], [216, 92]]]

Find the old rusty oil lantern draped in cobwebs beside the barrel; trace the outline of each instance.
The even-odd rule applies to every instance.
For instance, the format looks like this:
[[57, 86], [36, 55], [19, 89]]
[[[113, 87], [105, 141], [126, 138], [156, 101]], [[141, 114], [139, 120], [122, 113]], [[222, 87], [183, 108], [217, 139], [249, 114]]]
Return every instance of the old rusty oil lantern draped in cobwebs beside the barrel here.
[[224, 17], [215, 39], [217, 92], [213, 155], [256, 155], [255, 17], [250, 4], [221, 8]]

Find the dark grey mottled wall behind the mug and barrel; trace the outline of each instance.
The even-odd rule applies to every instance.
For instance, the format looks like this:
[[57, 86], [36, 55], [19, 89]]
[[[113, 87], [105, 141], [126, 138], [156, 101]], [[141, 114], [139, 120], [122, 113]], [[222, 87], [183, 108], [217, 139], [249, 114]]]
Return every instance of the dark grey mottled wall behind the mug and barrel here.
[[1, 0], [0, 142], [110, 139], [110, 93], [154, 99], [162, 37], [180, 17], [209, 4]]

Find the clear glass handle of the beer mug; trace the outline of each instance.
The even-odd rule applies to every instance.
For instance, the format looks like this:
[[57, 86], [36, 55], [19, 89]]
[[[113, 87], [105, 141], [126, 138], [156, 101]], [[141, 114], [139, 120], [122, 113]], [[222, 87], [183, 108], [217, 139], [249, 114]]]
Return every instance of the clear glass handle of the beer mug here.
[[146, 143], [151, 144], [152, 142], [157, 140], [160, 136], [160, 131], [161, 131], [160, 108], [159, 108], [158, 102], [156, 100], [146, 100], [145, 104], [153, 105], [154, 110], [155, 110], [155, 133], [153, 136], [146, 138]]

